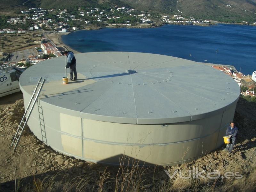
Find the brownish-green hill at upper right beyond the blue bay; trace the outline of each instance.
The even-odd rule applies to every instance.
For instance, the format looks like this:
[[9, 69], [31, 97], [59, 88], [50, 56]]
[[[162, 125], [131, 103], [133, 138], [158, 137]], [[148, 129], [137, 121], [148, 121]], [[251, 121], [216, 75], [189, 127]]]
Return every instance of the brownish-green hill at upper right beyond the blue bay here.
[[[198, 19], [256, 22], [256, 0], [121, 0], [142, 10], [158, 10]], [[229, 5], [229, 6], [227, 6]]]

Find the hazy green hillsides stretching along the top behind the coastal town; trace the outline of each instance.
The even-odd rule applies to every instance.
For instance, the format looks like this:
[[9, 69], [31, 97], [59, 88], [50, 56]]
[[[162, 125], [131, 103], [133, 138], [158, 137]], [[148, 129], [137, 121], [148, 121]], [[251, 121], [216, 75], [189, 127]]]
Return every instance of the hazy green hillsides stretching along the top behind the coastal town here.
[[154, 10], [162, 14], [182, 14], [195, 19], [256, 22], [256, 0], [1, 0], [0, 9], [10, 9], [22, 3], [27, 7], [38, 6], [47, 9], [117, 5], [141, 11]]

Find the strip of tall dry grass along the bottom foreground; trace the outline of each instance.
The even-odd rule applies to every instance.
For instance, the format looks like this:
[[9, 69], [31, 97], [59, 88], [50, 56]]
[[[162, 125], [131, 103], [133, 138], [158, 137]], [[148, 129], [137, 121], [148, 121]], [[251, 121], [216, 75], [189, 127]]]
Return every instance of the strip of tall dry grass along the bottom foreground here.
[[[242, 179], [181, 179], [177, 177], [175, 180], [166, 179], [158, 182], [154, 179], [154, 175], [162, 167], [155, 167], [150, 177], [146, 177], [148, 171], [152, 171], [152, 167], [139, 166], [138, 161], [132, 160], [129, 165], [124, 165], [124, 157], [121, 158], [120, 166], [113, 171], [113, 167], [106, 166], [104, 171], [99, 171], [98, 175], [92, 176], [93, 173], [87, 173], [76, 177], [70, 177], [68, 170], [60, 171], [52, 175], [47, 175], [43, 179], [36, 176], [33, 177], [32, 183], [26, 183], [20, 178], [15, 184], [15, 191], [26, 192], [83, 192], [83, 191], [115, 191], [115, 192], [148, 192], [148, 191], [254, 191], [256, 182], [255, 164], [250, 170], [250, 174], [243, 174]], [[150, 169], [150, 170], [149, 170]], [[226, 168], [220, 170], [220, 175], [224, 172], [242, 172], [242, 168], [236, 164], [230, 164]], [[182, 172], [182, 176], [188, 176], [189, 170]], [[206, 173], [204, 174], [207, 175]], [[148, 180], [151, 180], [149, 182]]]

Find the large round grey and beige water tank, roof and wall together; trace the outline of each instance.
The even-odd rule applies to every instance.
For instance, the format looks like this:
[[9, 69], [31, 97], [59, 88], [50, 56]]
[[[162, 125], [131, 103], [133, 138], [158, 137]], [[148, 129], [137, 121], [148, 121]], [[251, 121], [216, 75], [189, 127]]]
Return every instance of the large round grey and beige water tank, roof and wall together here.
[[[136, 52], [75, 54], [78, 80], [62, 84], [65, 57], [20, 76], [27, 107], [46, 79], [28, 126], [54, 150], [92, 162], [190, 161], [223, 144], [240, 89], [204, 63]], [[129, 157], [129, 158], [128, 158]]]

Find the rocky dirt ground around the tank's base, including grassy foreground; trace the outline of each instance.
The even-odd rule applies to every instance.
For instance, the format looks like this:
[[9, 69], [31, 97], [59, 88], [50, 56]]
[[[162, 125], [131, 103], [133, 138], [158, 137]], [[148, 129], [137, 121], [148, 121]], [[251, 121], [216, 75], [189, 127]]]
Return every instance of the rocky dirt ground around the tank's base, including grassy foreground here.
[[[8, 100], [9, 97], [4, 98]], [[19, 96], [13, 100], [19, 99]], [[12, 99], [9, 99], [12, 100]], [[195, 161], [175, 166], [112, 167], [77, 160], [55, 152], [38, 140], [28, 127], [15, 152], [10, 148], [24, 113], [23, 100], [0, 106], [0, 192], [2, 191], [255, 191], [256, 103], [240, 98], [234, 121], [239, 128], [231, 154], [216, 149]], [[189, 170], [239, 172], [242, 179], [180, 179]]]

